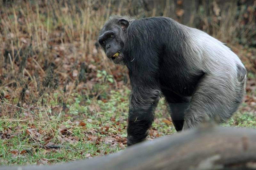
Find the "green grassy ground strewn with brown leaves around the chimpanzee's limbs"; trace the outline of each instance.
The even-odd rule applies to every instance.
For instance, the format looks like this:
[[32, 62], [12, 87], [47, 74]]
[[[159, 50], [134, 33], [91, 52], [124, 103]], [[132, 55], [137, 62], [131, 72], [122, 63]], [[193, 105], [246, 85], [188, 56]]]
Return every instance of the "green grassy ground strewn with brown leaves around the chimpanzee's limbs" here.
[[[109, 89], [100, 85], [99, 88], [109, 90], [102, 95], [108, 100], [72, 93], [66, 108], [60, 111], [55, 108], [60, 104], [58, 96], [63, 94], [53, 94], [44, 111], [38, 112], [36, 117], [1, 117], [1, 164], [51, 164], [124, 149], [130, 90], [126, 86]], [[255, 128], [255, 113], [242, 111], [246, 107], [243, 104], [233, 118], [222, 125]], [[176, 132], [163, 98], [156, 108], [155, 117], [148, 140]]]

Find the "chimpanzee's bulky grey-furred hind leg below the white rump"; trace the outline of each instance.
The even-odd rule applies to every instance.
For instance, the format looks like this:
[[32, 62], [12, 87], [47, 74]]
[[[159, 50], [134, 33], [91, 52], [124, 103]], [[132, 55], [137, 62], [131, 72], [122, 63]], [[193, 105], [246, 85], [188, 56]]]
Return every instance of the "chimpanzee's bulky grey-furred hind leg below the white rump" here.
[[184, 126], [187, 130], [205, 118], [223, 122], [231, 117], [242, 101], [244, 87], [236, 75], [205, 74], [197, 84], [189, 107], [185, 110]]

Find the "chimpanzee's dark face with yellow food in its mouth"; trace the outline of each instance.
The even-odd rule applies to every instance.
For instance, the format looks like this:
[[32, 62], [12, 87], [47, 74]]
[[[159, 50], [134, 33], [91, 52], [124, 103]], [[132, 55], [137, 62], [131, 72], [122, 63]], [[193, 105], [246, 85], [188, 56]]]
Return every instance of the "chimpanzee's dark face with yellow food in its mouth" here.
[[[115, 64], [124, 64], [124, 36], [126, 29], [124, 29], [123, 22], [119, 19], [116, 21], [106, 23], [100, 31], [99, 43], [105, 51], [107, 57]], [[127, 21], [128, 22], [128, 21]]]

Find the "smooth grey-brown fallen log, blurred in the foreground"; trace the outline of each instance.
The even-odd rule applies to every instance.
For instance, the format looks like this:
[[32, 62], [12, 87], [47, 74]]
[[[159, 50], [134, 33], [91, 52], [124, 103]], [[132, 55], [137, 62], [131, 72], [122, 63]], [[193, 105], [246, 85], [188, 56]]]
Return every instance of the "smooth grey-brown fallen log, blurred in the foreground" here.
[[256, 169], [256, 129], [201, 126], [100, 158], [0, 170]]

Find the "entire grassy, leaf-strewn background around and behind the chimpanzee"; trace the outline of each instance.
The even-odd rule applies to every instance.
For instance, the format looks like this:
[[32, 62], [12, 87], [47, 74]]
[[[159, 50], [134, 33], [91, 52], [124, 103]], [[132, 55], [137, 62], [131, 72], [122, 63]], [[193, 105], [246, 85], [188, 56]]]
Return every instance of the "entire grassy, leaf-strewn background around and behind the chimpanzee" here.
[[[127, 69], [97, 43], [110, 15], [170, 17], [226, 43], [248, 74], [244, 103], [223, 125], [256, 127], [255, 0], [1, 0], [1, 164], [50, 164], [125, 148]], [[161, 99], [149, 140], [174, 132]]]

